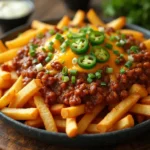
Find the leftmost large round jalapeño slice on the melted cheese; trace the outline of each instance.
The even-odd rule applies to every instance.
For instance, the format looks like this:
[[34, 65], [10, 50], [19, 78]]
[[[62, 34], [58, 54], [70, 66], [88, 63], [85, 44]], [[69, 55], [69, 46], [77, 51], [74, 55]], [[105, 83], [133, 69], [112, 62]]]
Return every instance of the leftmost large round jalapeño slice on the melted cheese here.
[[78, 55], [84, 54], [88, 51], [89, 48], [88, 40], [86, 38], [74, 39], [70, 43], [70, 48]]

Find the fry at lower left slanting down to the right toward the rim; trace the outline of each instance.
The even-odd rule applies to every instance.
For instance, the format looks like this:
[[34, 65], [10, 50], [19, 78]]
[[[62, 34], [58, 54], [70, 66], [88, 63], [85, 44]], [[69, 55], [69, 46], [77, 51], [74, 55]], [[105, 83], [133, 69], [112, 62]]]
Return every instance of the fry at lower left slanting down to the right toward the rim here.
[[39, 110], [45, 129], [47, 131], [57, 132], [57, 127], [56, 127], [54, 118], [48, 106], [44, 103], [43, 98], [40, 96], [34, 96], [34, 102], [35, 102], [36, 107]]

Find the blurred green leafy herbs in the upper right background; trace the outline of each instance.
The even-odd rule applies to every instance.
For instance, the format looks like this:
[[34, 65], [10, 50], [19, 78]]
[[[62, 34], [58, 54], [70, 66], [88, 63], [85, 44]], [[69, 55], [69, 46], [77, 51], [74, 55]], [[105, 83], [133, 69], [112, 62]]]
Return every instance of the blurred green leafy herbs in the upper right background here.
[[128, 23], [150, 29], [150, 0], [104, 0], [102, 9], [106, 16], [126, 16]]

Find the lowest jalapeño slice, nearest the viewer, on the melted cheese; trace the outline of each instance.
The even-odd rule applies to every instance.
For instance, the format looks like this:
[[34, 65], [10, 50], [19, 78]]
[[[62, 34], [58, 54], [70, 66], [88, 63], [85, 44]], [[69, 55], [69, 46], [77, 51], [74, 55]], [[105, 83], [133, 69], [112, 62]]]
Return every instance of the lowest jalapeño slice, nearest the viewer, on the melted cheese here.
[[84, 69], [91, 69], [96, 65], [96, 57], [93, 55], [84, 55], [78, 58], [78, 65]]

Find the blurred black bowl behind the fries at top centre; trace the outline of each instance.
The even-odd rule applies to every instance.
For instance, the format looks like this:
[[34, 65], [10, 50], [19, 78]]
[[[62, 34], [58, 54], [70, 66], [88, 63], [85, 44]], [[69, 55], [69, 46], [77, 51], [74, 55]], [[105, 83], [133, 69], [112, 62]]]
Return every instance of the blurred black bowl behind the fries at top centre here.
[[66, 6], [71, 10], [87, 10], [90, 0], [64, 0]]

